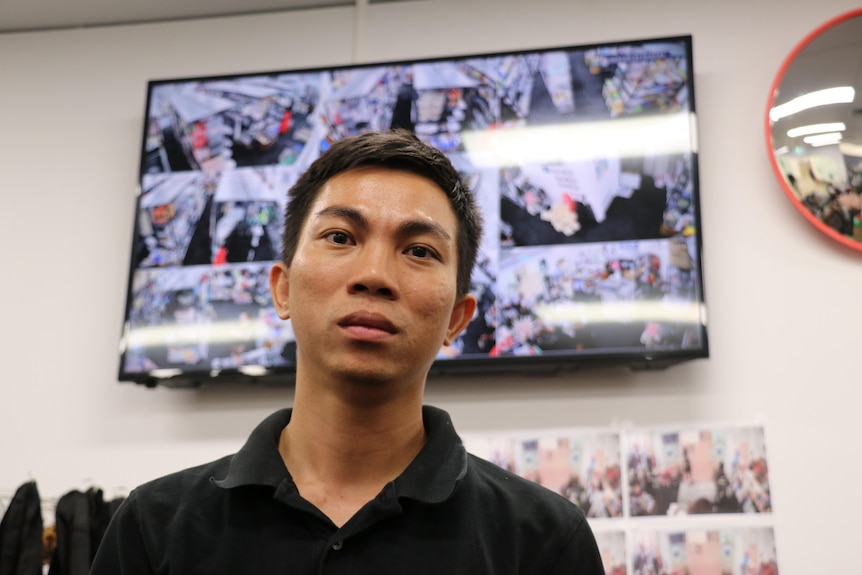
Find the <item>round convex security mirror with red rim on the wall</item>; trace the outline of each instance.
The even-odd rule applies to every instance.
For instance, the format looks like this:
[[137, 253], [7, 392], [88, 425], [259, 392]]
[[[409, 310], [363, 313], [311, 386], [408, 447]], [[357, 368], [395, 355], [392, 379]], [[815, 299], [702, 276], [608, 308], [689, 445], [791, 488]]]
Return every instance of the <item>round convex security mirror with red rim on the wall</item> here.
[[797, 209], [862, 251], [862, 9], [826, 22], [784, 62], [766, 118], [772, 166]]

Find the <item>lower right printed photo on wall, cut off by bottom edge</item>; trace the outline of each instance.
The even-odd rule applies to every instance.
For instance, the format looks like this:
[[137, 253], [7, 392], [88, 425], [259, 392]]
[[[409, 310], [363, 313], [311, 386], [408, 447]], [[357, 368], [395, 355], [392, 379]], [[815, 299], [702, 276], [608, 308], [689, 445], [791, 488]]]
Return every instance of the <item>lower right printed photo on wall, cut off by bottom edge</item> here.
[[638, 530], [631, 537], [633, 575], [778, 575], [771, 527]]

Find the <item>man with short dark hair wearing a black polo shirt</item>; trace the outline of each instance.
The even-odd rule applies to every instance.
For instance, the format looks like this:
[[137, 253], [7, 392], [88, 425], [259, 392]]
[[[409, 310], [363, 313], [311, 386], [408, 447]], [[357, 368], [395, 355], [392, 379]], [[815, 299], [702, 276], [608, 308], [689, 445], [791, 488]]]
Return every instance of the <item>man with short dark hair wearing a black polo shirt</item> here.
[[333, 145], [290, 191], [274, 306], [293, 409], [145, 484], [91, 573], [604, 573], [580, 510], [468, 455], [425, 379], [476, 308], [471, 193], [412, 134]]

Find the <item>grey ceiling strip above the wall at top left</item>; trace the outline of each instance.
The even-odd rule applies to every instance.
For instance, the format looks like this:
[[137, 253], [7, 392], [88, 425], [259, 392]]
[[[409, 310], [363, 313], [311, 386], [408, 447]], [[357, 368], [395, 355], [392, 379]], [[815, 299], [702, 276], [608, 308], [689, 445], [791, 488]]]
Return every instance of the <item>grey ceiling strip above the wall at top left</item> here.
[[0, 33], [351, 6], [359, 1], [361, 0], [3, 0], [0, 2]]

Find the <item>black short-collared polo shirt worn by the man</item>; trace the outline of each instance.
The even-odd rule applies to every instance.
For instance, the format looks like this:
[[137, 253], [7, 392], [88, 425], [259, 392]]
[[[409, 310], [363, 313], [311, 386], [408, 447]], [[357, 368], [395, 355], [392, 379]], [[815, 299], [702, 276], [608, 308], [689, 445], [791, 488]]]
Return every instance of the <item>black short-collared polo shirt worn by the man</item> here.
[[578, 507], [467, 454], [432, 407], [413, 462], [336, 527], [278, 452], [290, 414], [268, 417], [235, 455], [135, 489], [91, 575], [604, 574]]

